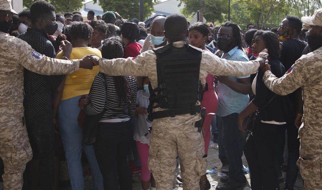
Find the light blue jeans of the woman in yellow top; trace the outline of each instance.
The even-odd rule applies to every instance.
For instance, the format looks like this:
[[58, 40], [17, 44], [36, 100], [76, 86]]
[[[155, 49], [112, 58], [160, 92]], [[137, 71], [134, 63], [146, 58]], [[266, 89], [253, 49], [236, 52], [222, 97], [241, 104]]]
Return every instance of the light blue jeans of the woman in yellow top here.
[[103, 176], [99, 170], [93, 146], [82, 144], [83, 132], [77, 117], [81, 109], [78, 107], [79, 97], [62, 100], [59, 104], [59, 131], [64, 146], [68, 173], [72, 190], [83, 190], [83, 168], [81, 165], [82, 147], [90, 163], [90, 171], [94, 178], [94, 189], [103, 190]]

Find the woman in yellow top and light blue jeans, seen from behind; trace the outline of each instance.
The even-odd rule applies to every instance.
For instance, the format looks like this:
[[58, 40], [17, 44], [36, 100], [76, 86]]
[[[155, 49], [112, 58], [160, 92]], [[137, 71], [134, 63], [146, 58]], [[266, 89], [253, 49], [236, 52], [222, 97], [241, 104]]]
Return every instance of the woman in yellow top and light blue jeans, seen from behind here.
[[[83, 22], [72, 24], [69, 30], [71, 44], [73, 46], [70, 59], [82, 58], [85, 55], [94, 54], [99, 58], [101, 52], [96, 48], [88, 47], [88, 42], [93, 33], [93, 28]], [[63, 52], [58, 53], [57, 58], [63, 57]], [[82, 145], [83, 133], [79, 127], [77, 117], [81, 109], [78, 107], [78, 100], [82, 95], [87, 95], [93, 83], [94, 77], [99, 72], [99, 66], [92, 70], [79, 69], [66, 75], [60, 85], [60, 92], [57, 92], [54, 102], [54, 116], [58, 108], [59, 131], [62, 138], [68, 173], [71, 179], [73, 190], [84, 189], [83, 170], [81, 165], [82, 147], [90, 163], [91, 174], [94, 177], [94, 189], [103, 190], [103, 177], [99, 170], [93, 146]], [[61, 101], [60, 101], [61, 100]], [[60, 102], [60, 103], [59, 103]], [[55, 117], [54, 117], [55, 119]]]

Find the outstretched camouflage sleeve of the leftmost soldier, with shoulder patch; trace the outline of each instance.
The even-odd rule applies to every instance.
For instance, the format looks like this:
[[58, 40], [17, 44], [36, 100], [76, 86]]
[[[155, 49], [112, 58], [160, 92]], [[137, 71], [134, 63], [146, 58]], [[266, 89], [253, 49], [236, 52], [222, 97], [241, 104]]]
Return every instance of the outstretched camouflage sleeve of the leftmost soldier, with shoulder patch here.
[[[26, 42], [25, 42], [26, 43]], [[54, 59], [41, 55], [30, 45], [22, 45], [18, 63], [24, 68], [42, 75], [62, 75], [79, 70], [79, 60]]]

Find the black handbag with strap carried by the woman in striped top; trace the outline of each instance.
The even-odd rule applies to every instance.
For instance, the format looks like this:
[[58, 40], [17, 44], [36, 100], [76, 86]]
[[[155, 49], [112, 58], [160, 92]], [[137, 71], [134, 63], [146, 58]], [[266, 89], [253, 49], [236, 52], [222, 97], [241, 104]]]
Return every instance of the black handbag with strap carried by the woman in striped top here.
[[[102, 73], [104, 83], [105, 83], [105, 90], [107, 89], [107, 82], [106, 82], [106, 77], [105, 74]], [[92, 87], [90, 88], [90, 91], [92, 90]], [[105, 113], [105, 109], [97, 114], [97, 115], [86, 115], [85, 116], [85, 121], [84, 121], [84, 127], [83, 127], [83, 143], [85, 145], [92, 145], [96, 142], [97, 139], [97, 133], [98, 133], [98, 125], [99, 125], [99, 120], [102, 119], [103, 115]]]

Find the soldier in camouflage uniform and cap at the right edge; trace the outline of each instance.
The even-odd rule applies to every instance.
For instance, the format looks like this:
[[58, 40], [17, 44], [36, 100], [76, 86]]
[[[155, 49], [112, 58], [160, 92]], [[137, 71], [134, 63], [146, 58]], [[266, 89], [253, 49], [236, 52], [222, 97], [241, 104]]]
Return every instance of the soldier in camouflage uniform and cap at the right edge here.
[[281, 78], [275, 77], [266, 64], [265, 85], [279, 95], [287, 95], [303, 86], [304, 115], [299, 128], [300, 157], [297, 165], [305, 190], [322, 189], [322, 9], [313, 16], [303, 16], [310, 25], [308, 45], [313, 51], [300, 57]]

